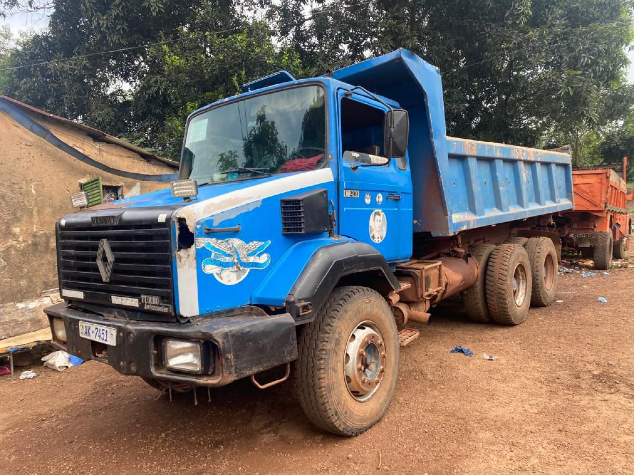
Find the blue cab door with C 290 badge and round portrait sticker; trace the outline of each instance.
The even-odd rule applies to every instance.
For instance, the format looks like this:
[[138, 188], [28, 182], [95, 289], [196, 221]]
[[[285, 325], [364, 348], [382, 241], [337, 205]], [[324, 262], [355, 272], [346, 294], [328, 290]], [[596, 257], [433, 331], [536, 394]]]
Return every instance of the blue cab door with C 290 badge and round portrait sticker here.
[[[339, 233], [374, 246], [389, 262], [408, 260], [411, 175], [406, 158], [384, 162], [387, 108], [339, 92]], [[368, 167], [367, 165], [373, 165]]]

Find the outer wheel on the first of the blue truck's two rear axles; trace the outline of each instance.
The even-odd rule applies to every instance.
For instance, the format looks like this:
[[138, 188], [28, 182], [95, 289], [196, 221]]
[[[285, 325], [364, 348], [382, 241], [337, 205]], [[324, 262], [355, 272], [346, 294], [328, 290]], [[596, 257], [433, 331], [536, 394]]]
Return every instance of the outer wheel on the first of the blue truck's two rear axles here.
[[486, 302], [491, 317], [503, 325], [519, 325], [531, 307], [533, 278], [526, 250], [518, 244], [501, 244], [489, 258]]

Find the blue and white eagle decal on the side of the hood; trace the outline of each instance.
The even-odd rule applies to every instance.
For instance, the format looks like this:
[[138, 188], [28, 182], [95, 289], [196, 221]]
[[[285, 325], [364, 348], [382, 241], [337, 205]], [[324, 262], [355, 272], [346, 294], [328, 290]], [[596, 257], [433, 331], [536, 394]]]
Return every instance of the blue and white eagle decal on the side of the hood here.
[[205, 248], [211, 256], [203, 259], [202, 271], [213, 274], [217, 281], [233, 285], [242, 281], [249, 270], [264, 269], [271, 263], [271, 255], [263, 253], [271, 241], [251, 241], [249, 244], [240, 239], [197, 238], [196, 248]]

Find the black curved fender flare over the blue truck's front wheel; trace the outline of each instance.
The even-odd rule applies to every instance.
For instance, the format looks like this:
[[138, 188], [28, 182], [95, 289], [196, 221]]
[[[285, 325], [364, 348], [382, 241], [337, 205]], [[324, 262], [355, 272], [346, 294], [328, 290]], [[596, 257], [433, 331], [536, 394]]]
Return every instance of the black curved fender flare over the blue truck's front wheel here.
[[313, 253], [288, 293], [286, 311], [295, 322], [313, 320], [337, 283], [359, 273], [363, 273], [364, 282], [385, 293], [401, 288], [383, 255], [370, 244], [356, 241], [330, 244]]

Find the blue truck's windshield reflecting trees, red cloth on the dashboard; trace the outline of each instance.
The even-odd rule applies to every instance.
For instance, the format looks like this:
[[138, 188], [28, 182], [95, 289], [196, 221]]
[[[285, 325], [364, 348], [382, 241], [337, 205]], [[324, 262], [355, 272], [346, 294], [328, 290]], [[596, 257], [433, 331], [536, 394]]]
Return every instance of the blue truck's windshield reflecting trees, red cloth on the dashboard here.
[[204, 184], [313, 170], [323, 166], [325, 153], [324, 90], [293, 87], [192, 118], [181, 178]]

